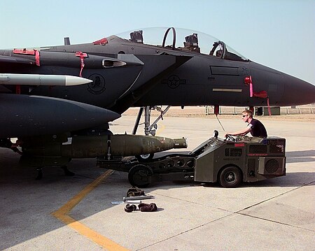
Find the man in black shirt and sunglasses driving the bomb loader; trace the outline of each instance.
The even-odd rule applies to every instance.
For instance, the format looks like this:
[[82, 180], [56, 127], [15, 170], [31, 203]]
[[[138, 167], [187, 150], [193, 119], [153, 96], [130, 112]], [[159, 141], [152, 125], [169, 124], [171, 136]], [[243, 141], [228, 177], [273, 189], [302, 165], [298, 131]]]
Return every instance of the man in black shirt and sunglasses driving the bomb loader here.
[[248, 123], [247, 127], [239, 131], [226, 133], [225, 137], [228, 134], [232, 136], [245, 136], [248, 134], [248, 132], [251, 132], [251, 136], [253, 137], [267, 137], [267, 131], [264, 125], [259, 120], [255, 120], [253, 118], [253, 113], [251, 110], [244, 110], [241, 114], [243, 115], [243, 121]]

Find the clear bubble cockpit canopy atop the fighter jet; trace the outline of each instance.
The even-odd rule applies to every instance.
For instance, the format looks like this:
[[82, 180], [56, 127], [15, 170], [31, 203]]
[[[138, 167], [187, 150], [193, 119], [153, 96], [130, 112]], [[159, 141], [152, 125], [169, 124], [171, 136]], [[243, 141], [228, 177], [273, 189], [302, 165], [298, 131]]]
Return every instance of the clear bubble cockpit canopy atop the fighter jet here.
[[218, 39], [198, 31], [189, 29], [146, 28], [118, 34], [120, 38], [133, 43], [171, 48], [172, 50], [191, 51], [228, 59], [233, 61], [249, 61], [228, 45]]

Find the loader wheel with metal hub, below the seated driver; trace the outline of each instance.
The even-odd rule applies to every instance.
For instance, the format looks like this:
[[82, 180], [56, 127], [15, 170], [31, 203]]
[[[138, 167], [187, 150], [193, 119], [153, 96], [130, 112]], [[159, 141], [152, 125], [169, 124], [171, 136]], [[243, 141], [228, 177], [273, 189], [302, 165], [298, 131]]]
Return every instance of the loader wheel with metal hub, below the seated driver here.
[[237, 187], [241, 182], [241, 171], [236, 166], [225, 167], [220, 172], [218, 180], [222, 187]]

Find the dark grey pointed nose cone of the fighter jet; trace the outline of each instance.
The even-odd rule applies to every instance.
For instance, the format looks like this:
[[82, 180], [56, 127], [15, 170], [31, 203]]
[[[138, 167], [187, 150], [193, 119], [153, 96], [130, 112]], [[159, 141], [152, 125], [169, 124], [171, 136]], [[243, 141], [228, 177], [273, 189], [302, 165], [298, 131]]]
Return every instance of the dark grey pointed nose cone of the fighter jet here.
[[315, 103], [314, 85], [289, 75], [286, 75], [284, 80], [283, 103], [296, 106]]

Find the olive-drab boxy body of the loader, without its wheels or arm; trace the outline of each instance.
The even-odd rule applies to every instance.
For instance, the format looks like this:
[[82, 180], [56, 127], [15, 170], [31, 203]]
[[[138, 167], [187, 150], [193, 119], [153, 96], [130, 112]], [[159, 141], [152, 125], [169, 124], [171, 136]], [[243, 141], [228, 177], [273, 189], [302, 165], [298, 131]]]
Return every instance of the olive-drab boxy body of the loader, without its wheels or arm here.
[[225, 168], [237, 168], [241, 181], [286, 175], [286, 139], [279, 137], [223, 141], [211, 138], [196, 157], [195, 181], [216, 182]]

